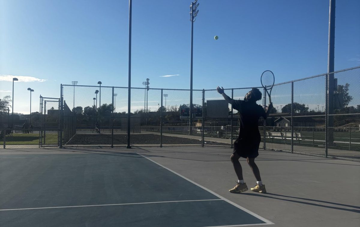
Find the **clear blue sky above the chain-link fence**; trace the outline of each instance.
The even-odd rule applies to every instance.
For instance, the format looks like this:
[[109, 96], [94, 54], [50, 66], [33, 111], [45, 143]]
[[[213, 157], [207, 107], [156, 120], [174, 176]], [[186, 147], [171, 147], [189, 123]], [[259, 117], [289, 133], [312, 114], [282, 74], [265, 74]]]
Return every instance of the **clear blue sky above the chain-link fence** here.
[[[150, 87], [190, 87], [190, 3], [133, 0], [132, 87], [146, 78]], [[328, 0], [199, 3], [194, 89], [260, 86], [264, 70], [276, 82], [327, 71]], [[358, 0], [337, 1], [335, 70], [360, 65], [359, 8]], [[12, 91], [4, 75], [36, 81], [15, 83], [20, 113], [29, 112], [28, 87], [36, 111], [40, 94], [59, 97], [60, 83], [127, 86], [128, 18], [127, 0], [0, 0], [0, 96]]]

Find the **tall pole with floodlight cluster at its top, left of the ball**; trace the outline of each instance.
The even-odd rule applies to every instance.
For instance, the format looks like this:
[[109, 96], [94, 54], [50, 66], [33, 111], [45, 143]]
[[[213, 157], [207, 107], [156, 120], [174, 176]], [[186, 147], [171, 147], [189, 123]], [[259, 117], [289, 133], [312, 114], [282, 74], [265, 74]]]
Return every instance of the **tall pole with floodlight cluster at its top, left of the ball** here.
[[193, 37], [194, 37], [194, 22], [195, 17], [198, 15], [197, 10], [199, 3], [195, 0], [190, 5], [190, 21], [191, 21], [191, 57], [190, 57], [190, 119], [189, 119], [189, 134], [192, 135], [192, 122], [193, 122]]

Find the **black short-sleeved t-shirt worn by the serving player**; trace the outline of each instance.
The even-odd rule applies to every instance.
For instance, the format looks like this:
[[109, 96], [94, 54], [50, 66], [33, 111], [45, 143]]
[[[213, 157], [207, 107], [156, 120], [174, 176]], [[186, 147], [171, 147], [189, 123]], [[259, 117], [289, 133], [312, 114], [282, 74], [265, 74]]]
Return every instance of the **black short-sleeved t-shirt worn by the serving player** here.
[[265, 110], [256, 103], [244, 100], [233, 100], [233, 108], [239, 111], [240, 115], [240, 139], [260, 139], [258, 120], [260, 117], [266, 119]]

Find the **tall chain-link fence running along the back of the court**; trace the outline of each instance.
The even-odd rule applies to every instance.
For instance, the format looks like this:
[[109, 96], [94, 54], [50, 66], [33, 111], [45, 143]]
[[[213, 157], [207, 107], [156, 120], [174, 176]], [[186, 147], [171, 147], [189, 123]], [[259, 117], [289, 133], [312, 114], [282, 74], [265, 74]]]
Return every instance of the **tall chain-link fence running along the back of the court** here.
[[[359, 78], [360, 67], [354, 67], [275, 84], [274, 109], [258, 123], [260, 147], [359, 161]], [[101, 85], [62, 84], [60, 99], [40, 99], [40, 114], [33, 115], [29, 134], [22, 125], [8, 123], [7, 109], [1, 109], [0, 143], [126, 146], [128, 88]], [[263, 98], [258, 104], [266, 108], [267, 97], [259, 89]], [[232, 88], [225, 93], [242, 100], [249, 90]], [[233, 147], [239, 114], [216, 90], [193, 90], [192, 109], [190, 113], [190, 90], [131, 88], [130, 145]]]

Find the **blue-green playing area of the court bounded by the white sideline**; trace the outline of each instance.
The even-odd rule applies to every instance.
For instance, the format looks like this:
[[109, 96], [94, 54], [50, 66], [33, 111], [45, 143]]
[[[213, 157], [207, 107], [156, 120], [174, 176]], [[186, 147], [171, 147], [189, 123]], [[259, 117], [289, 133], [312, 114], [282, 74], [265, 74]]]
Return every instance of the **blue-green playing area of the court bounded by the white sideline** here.
[[2, 227], [273, 224], [146, 154], [28, 153], [0, 157]]

